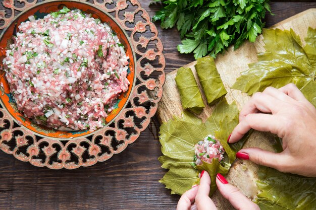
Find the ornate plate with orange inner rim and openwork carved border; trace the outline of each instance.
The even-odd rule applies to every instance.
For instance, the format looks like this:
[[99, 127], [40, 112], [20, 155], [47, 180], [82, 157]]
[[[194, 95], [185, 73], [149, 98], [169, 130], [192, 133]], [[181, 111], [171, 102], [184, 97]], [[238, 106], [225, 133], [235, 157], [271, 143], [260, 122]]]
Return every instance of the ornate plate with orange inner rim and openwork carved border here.
[[[163, 45], [148, 13], [137, 1], [126, 0], [115, 3], [94, 0], [93, 4], [76, 0], [24, 3], [20, 8], [13, 0], [3, 2], [12, 15], [7, 18], [6, 12], [0, 11], [0, 24], [4, 21], [0, 25], [0, 63], [21, 22], [30, 15], [40, 17], [66, 6], [99, 18], [118, 34], [130, 57], [128, 80], [131, 85], [125, 94], [120, 95], [116, 109], [106, 118], [106, 127], [93, 132], [58, 131], [32, 123], [17, 110], [5, 74], [0, 71], [0, 149], [21, 161], [51, 169], [91, 166], [122, 152], [148, 126], [163, 93]], [[15, 16], [16, 10], [22, 12]]]

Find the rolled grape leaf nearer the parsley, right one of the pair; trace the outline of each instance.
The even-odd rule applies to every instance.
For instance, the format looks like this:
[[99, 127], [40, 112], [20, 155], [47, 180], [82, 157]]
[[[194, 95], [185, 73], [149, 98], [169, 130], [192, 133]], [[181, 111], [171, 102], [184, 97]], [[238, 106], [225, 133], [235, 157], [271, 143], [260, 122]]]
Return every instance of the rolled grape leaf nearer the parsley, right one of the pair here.
[[227, 94], [213, 57], [197, 59], [195, 70], [210, 106]]

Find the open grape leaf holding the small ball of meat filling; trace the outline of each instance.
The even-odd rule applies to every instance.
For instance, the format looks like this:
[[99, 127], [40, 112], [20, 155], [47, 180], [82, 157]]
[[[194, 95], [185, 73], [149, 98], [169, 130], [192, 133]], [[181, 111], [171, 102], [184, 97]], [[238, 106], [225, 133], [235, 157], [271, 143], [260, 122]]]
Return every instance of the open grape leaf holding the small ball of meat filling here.
[[[162, 167], [169, 171], [160, 180], [171, 189], [171, 194], [183, 194], [198, 182], [198, 173], [206, 170], [212, 179], [212, 192], [216, 189], [217, 173], [226, 174], [230, 164], [236, 158], [234, 145], [227, 144], [227, 137], [238, 123], [238, 108], [235, 103], [228, 104], [224, 99], [219, 102], [208, 120], [203, 123], [194, 114], [184, 111], [181, 117], [174, 116], [160, 127], [160, 142], [164, 156], [159, 158]], [[222, 129], [223, 128], [223, 129]], [[191, 166], [194, 157], [194, 146], [206, 135], [212, 134], [224, 147], [228, 160], [223, 167], [216, 159], [212, 164], [203, 163], [198, 168]], [[245, 136], [247, 138], [248, 135]], [[242, 144], [245, 139], [241, 141]]]

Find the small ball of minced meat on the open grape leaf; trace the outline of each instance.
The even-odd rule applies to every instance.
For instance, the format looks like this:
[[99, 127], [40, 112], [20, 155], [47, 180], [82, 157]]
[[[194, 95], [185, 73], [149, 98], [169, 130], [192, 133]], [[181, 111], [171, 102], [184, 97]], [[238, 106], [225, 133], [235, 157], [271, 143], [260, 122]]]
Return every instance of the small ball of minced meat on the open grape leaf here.
[[221, 162], [224, 159], [225, 150], [220, 141], [213, 135], [206, 136], [194, 146], [194, 164], [201, 165], [202, 161], [212, 163], [213, 159]]

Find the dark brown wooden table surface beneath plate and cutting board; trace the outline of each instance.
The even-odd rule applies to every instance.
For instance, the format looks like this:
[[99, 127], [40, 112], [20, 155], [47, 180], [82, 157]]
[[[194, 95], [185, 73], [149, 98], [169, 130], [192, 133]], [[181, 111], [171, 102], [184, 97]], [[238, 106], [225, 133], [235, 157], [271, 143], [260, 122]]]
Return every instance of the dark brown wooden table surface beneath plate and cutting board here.
[[[4, 0], [0, 0], [2, 3]], [[159, 6], [139, 0], [152, 17]], [[267, 27], [309, 8], [315, 1], [273, 1]], [[3, 9], [0, 4], [0, 10]], [[166, 73], [194, 60], [178, 53], [179, 33], [162, 30]], [[159, 122], [153, 117], [137, 141], [109, 161], [75, 170], [37, 168], [0, 151], [0, 209], [175, 209], [178, 195], [158, 182], [166, 172], [157, 158], [162, 155]]]

